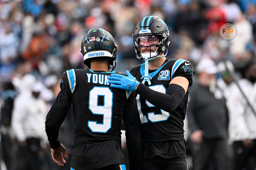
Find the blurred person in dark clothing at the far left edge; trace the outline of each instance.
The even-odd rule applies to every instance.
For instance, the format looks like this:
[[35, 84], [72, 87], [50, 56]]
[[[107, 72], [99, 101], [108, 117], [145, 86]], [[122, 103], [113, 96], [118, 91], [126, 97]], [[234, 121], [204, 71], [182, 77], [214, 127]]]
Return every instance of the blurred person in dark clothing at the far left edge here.
[[3, 105], [1, 106], [1, 144], [2, 144], [2, 156], [6, 168], [13, 170], [14, 153], [11, 152], [14, 143], [13, 135], [11, 134], [11, 119], [13, 110], [13, 101], [17, 95], [15, 88], [11, 82], [5, 82], [2, 84], [1, 97]]

